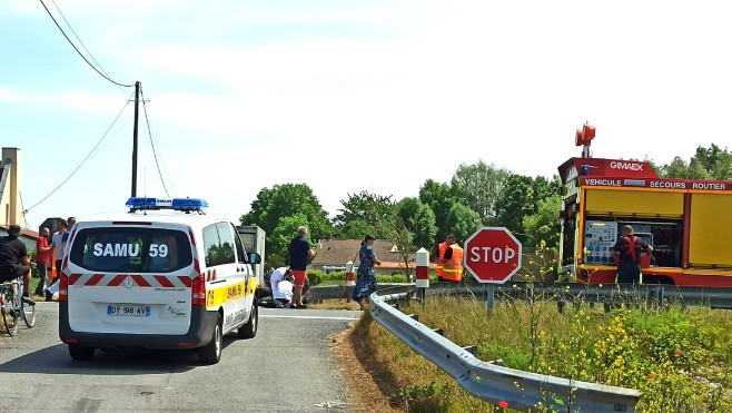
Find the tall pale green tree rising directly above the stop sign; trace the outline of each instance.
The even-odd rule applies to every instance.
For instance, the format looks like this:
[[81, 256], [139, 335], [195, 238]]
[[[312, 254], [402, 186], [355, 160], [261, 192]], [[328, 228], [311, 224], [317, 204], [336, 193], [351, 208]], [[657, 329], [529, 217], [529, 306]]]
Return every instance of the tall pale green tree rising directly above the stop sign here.
[[484, 225], [495, 225], [498, 216], [497, 200], [511, 174], [495, 165], [461, 164], [453, 175], [453, 185], [459, 188], [458, 199], [476, 212]]

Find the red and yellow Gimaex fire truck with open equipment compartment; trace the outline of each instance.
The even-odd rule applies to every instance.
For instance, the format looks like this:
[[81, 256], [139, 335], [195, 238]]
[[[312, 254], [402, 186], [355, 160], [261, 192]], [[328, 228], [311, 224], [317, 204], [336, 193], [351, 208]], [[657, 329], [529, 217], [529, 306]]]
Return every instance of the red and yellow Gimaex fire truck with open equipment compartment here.
[[[594, 137], [594, 128], [585, 125]], [[558, 167], [564, 199], [560, 273], [614, 283], [611, 249], [624, 225], [653, 246], [644, 284], [732, 286], [732, 181], [662, 179], [649, 163], [583, 156]]]

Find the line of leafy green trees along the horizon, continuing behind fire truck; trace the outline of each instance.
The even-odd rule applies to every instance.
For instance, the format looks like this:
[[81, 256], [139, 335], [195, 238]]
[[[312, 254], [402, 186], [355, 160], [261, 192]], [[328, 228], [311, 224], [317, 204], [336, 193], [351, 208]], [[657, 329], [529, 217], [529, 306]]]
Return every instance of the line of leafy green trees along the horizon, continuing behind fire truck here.
[[[670, 164], [647, 161], [662, 178], [732, 179], [732, 153], [712, 144], [698, 147], [689, 161], [675, 157]], [[463, 243], [482, 226], [511, 230], [525, 247], [556, 250], [562, 209], [561, 181], [513, 174], [478, 160], [461, 164], [448, 181], [427, 179], [417, 197], [363, 190], [346, 194], [333, 218], [307, 184], [280, 184], [263, 188], [241, 225], [257, 225], [266, 234], [268, 266], [287, 263], [287, 248], [297, 227], [305, 225], [311, 239], [360, 239], [370, 234], [396, 244], [405, 263], [421, 247], [431, 248], [446, 234]]]

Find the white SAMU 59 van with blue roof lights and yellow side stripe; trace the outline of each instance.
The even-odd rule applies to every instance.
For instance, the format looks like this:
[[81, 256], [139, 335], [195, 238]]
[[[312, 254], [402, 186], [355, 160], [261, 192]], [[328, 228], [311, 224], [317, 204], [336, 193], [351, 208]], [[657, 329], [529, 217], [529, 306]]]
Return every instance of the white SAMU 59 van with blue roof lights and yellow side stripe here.
[[75, 360], [96, 348], [197, 348], [221, 357], [222, 336], [257, 334], [257, 289], [237, 228], [202, 199], [130, 198], [129, 213], [72, 228], [59, 287], [59, 336]]

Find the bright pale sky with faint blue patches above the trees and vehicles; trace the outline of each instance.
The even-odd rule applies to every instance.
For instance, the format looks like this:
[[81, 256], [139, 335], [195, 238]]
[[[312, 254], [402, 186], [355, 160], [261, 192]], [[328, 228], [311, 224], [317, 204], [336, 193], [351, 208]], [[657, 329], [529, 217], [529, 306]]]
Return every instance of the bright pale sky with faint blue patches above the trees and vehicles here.
[[[170, 196], [235, 219], [277, 184], [335, 215], [347, 194], [416, 196], [461, 163], [551, 177], [585, 120], [595, 157], [732, 146], [723, 2], [44, 2], [110, 78], [142, 82]], [[0, 142], [21, 149], [31, 228], [125, 210], [132, 89], [40, 1], [2, 9]], [[138, 194], [165, 197], [142, 112], [139, 150]]]

